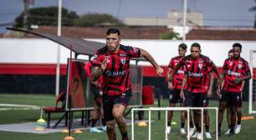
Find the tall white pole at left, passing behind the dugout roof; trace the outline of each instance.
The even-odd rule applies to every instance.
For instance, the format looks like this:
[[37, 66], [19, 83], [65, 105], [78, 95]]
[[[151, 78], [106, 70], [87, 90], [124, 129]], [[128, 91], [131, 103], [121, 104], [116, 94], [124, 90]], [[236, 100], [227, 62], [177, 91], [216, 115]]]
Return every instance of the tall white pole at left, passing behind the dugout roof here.
[[[58, 10], [58, 30], [57, 35], [61, 36], [61, 13], [62, 13], [62, 0], [59, 0], [59, 10]], [[56, 66], [56, 87], [55, 87], [55, 95], [59, 95], [59, 71], [60, 71], [60, 64], [59, 58], [60, 57], [60, 45], [58, 44], [57, 47], [57, 66]]]

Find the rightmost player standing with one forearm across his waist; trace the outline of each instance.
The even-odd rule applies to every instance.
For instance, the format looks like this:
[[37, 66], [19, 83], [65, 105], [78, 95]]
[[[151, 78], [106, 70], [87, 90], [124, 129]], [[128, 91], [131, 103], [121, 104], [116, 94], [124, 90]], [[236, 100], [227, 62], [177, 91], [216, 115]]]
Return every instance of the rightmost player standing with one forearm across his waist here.
[[[242, 52], [242, 45], [238, 42], [233, 44], [233, 57], [225, 60], [223, 64], [223, 79], [218, 86], [218, 96], [221, 98], [221, 102], [227, 103], [230, 107], [230, 132], [229, 135], [233, 135], [236, 116], [238, 112], [241, 112], [242, 107], [242, 89], [243, 81], [251, 78], [251, 72], [248, 67], [248, 62], [240, 57]], [[222, 87], [223, 83], [223, 89]], [[222, 92], [221, 92], [222, 91]], [[223, 107], [219, 108], [219, 116], [223, 118]], [[219, 119], [218, 133], [221, 133], [221, 124], [223, 119]], [[241, 130], [241, 117], [238, 116], [237, 133]]]

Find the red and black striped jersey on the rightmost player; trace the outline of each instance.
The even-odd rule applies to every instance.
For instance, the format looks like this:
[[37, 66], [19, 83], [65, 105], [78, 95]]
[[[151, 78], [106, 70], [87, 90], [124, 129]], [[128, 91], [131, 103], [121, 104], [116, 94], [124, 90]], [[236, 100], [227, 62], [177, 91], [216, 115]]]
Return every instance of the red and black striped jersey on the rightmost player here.
[[250, 72], [248, 62], [242, 57], [238, 59], [234, 57], [228, 58], [223, 64], [223, 70], [226, 71], [223, 90], [228, 92], [242, 92], [242, 82], [236, 84], [234, 83], [234, 79], [247, 76], [247, 73]]

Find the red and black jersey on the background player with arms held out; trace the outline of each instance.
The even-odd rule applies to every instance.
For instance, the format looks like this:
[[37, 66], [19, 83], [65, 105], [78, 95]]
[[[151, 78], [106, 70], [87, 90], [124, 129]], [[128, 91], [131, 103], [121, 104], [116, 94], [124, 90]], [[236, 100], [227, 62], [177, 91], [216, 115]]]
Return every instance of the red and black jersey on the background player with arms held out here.
[[182, 58], [181, 64], [187, 75], [187, 91], [206, 93], [208, 89], [207, 77], [209, 70], [212, 69], [212, 61], [204, 55], [200, 55], [197, 59], [188, 55]]

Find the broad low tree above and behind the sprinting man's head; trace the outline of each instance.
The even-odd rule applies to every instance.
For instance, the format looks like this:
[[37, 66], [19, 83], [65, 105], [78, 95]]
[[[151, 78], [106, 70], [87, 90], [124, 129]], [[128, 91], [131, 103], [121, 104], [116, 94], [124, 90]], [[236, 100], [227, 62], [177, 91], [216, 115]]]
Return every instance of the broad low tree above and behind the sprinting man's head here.
[[95, 27], [95, 26], [125, 26], [118, 18], [110, 14], [87, 13], [76, 19], [74, 22], [78, 27]]

